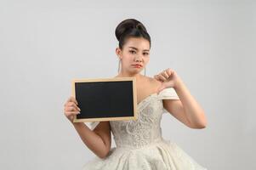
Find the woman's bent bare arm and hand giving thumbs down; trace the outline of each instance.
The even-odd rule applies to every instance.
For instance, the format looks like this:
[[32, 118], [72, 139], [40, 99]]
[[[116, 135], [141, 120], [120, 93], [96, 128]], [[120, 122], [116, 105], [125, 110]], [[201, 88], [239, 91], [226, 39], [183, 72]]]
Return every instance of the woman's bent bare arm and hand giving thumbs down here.
[[160, 91], [164, 88], [172, 87], [179, 96], [179, 100], [163, 99], [163, 106], [168, 112], [188, 127], [204, 128], [207, 126], [204, 111], [175, 71], [168, 69], [155, 78], [162, 82]]

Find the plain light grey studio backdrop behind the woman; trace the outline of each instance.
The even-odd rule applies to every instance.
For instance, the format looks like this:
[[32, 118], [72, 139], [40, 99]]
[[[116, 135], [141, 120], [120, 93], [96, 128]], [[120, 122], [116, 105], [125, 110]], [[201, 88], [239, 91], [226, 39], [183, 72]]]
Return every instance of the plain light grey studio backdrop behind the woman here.
[[255, 2], [92, 2], [1, 0], [0, 168], [81, 169], [94, 157], [63, 105], [71, 79], [117, 75], [114, 31], [134, 18], [152, 39], [147, 76], [177, 71], [208, 118], [198, 130], [165, 114], [163, 137], [208, 169], [255, 169]]

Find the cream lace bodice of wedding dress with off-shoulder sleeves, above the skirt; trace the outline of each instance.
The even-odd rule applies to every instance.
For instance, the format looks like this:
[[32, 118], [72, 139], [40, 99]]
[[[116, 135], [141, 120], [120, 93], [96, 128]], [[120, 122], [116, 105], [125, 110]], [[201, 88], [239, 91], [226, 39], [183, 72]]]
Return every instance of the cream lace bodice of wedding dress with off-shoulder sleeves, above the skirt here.
[[[163, 108], [162, 99], [179, 99], [174, 88], [165, 88], [159, 94], [151, 94], [137, 105], [138, 119], [130, 121], [110, 121], [117, 147], [137, 148], [162, 139], [160, 127]], [[100, 122], [91, 122], [94, 129]]]

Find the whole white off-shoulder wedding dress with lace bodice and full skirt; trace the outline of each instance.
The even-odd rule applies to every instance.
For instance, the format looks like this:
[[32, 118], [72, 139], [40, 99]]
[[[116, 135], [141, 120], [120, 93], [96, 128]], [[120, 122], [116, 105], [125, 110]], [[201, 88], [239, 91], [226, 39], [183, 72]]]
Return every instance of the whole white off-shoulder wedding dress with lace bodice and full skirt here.
[[[174, 88], [165, 88], [137, 105], [137, 120], [111, 121], [117, 147], [111, 148], [104, 159], [95, 156], [87, 161], [82, 170], [206, 170], [179, 145], [162, 138], [162, 113], [168, 113], [162, 99], [179, 99], [179, 96]], [[91, 129], [98, 124], [90, 122]]]

